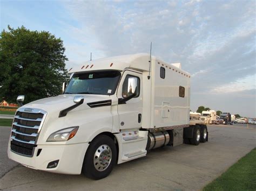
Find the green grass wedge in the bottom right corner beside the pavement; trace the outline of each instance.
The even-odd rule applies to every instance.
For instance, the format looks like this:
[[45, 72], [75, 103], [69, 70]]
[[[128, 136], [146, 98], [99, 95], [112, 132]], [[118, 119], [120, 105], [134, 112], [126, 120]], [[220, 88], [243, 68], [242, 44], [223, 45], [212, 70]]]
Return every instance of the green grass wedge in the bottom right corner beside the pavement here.
[[208, 190], [256, 190], [256, 148], [213, 182], [204, 187]]

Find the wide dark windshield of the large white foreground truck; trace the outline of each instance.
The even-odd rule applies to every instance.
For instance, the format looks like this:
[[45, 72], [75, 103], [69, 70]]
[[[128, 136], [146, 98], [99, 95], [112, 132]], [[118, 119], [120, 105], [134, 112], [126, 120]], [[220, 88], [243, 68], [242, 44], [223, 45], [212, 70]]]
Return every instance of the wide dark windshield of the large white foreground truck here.
[[74, 74], [64, 94], [113, 95], [121, 73], [116, 70]]

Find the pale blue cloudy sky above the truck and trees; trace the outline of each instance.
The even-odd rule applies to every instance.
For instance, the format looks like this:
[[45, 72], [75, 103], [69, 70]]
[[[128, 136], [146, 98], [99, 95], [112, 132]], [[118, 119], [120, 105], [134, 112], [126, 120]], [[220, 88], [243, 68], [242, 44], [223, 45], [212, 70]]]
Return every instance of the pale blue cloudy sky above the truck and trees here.
[[24, 25], [64, 41], [67, 68], [149, 52], [192, 75], [191, 109], [256, 117], [255, 1], [3, 1], [1, 30]]

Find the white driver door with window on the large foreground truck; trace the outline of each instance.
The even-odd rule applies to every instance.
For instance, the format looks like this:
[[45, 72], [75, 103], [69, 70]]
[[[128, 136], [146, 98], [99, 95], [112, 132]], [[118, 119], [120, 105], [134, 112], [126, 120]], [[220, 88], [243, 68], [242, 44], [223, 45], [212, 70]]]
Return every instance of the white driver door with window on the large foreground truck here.
[[126, 98], [134, 94], [137, 87], [137, 94], [126, 103], [118, 103], [119, 128], [121, 130], [139, 129], [142, 126], [142, 73], [125, 70], [120, 81], [117, 97]]

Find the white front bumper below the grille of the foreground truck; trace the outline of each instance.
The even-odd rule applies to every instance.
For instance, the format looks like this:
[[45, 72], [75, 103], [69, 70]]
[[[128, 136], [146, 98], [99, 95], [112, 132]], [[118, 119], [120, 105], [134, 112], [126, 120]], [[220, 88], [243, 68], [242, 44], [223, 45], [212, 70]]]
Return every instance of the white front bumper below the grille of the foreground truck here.
[[[32, 157], [26, 157], [10, 149], [8, 157], [26, 167], [60, 174], [80, 174], [89, 143], [70, 145], [37, 145]], [[42, 149], [37, 156], [38, 150]], [[59, 160], [57, 167], [47, 168], [49, 162]]]

